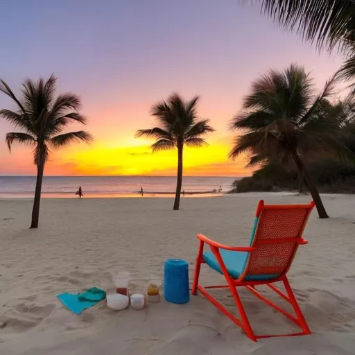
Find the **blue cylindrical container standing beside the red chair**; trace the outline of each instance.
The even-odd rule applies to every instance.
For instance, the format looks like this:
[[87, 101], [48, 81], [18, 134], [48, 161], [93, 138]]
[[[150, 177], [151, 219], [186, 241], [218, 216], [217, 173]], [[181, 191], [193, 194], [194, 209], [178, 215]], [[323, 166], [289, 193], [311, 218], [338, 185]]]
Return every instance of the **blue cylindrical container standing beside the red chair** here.
[[171, 303], [189, 302], [189, 264], [186, 261], [181, 259], [165, 261], [164, 297], [167, 302]]

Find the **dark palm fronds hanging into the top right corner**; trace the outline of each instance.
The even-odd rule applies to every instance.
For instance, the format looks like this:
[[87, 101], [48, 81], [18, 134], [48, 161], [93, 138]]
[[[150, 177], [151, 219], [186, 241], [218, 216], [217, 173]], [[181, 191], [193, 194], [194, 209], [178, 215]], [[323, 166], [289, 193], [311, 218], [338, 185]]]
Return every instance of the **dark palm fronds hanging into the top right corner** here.
[[319, 48], [353, 50], [355, 0], [259, 0], [262, 11]]

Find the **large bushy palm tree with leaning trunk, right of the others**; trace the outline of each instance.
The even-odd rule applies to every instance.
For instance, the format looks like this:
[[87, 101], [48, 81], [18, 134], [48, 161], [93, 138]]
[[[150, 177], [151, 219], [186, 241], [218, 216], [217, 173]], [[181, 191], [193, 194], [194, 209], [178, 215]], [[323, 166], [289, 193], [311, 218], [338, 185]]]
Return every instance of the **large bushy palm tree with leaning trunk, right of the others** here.
[[315, 96], [313, 80], [302, 67], [293, 64], [285, 71], [272, 70], [252, 84], [251, 94], [243, 101], [244, 112], [232, 120], [232, 129], [246, 131], [236, 138], [230, 157], [250, 152], [253, 164], [266, 158], [279, 159], [284, 164], [293, 161], [304, 177], [320, 218], [327, 218], [327, 212], [304, 168], [304, 159], [340, 148], [338, 121], [324, 114], [323, 109], [333, 87], [334, 78]]

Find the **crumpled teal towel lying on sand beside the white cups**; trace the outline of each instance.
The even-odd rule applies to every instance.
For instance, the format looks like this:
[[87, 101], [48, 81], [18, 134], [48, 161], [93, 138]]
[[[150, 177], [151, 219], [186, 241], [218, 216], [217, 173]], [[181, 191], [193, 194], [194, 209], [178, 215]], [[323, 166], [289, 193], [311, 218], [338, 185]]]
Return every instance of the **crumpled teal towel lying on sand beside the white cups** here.
[[57, 296], [64, 306], [75, 314], [80, 314], [85, 309], [105, 300], [106, 293], [101, 288], [92, 287], [83, 293], [61, 293]]

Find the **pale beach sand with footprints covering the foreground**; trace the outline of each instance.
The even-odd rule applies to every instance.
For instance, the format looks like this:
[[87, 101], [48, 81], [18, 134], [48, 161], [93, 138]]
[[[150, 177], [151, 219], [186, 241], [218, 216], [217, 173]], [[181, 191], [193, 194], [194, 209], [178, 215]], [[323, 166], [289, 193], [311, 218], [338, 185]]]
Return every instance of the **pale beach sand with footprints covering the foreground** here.
[[[171, 198], [44, 199], [38, 230], [28, 230], [32, 200], [0, 200], [0, 354], [354, 354], [355, 196], [323, 197], [331, 218], [320, 220], [313, 211], [304, 233], [309, 245], [300, 247], [289, 272], [311, 336], [253, 343], [201, 295], [142, 311], [114, 312], [101, 302], [81, 315], [55, 297], [107, 288], [112, 272], [123, 268], [132, 277], [130, 291], [144, 292], [150, 279], [162, 279], [171, 257], [189, 262], [192, 282], [196, 234], [248, 245], [259, 198], [311, 200], [248, 193], [182, 199], [173, 211]], [[202, 284], [221, 279], [202, 266]], [[234, 309], [226, 290], [213, 294]], [[241, 297], [257, 334], [297, 330], [247, 290]]]

